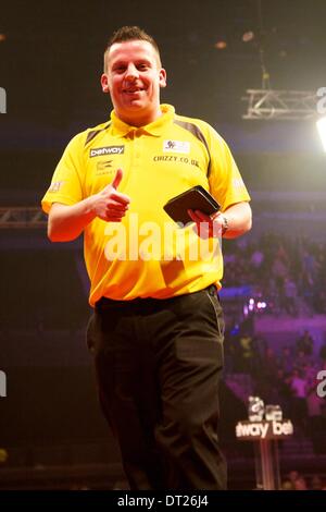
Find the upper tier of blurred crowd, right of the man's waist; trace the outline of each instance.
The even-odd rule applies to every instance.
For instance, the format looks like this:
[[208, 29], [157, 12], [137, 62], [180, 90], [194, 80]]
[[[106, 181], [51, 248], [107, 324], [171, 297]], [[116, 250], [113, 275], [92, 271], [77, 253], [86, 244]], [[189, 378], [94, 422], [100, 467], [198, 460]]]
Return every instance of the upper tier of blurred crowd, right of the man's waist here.
[[271, 313], [326, 313], [326, 243], [266, 233], [258, 242], [226, 242], [223, 249], [224, 287], [250, 285]]

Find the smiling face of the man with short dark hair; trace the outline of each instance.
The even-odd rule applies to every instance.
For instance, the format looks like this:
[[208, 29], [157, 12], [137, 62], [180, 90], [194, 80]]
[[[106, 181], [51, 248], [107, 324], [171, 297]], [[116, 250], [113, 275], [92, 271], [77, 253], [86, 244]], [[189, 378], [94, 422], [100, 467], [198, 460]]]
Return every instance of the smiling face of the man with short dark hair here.
[[101, 84], [111, 95], [116, 115], [126, 123], [141, 126], [161, 115], [160, 87], [166, 85], [166, 73], [150, 42], [112, 45]]

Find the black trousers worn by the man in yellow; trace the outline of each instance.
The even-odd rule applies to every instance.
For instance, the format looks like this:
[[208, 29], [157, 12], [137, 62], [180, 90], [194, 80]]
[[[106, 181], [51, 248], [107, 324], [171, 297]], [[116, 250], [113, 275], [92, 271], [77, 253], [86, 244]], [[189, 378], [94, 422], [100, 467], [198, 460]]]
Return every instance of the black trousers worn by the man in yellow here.
[[97, 303], [87, 341], [131, 489], [225, 489], [217, 438], [223, 312], [215, 287]]

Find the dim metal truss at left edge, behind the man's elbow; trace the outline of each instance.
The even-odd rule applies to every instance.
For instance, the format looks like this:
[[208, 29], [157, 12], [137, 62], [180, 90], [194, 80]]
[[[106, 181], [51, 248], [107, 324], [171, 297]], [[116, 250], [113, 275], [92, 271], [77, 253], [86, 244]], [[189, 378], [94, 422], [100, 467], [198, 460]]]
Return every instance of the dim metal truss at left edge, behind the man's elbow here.
[[0, 228], [28, 229], [46, 225], [47, 217], [40, 208], [21, 206], [0, 208]]

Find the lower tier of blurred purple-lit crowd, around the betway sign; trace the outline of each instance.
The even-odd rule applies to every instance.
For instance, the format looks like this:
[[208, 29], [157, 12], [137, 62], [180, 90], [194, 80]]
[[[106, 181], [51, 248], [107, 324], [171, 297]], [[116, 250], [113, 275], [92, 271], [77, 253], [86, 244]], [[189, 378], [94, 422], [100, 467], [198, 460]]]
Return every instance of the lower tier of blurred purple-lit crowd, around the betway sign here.
[[326, 369], [326, 341], [316, 351], [306, 330], [294, 344], [276, 351], [248, 324], [238, 333], [226, 332], [225, 371], [251, 378], [251, 392], [265, 403], [278, 404], [293, 422], [296, 437], [309, 437], [315, 452], [326, 453], [326, 399], [318, 397], [317, 374]]

